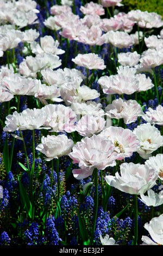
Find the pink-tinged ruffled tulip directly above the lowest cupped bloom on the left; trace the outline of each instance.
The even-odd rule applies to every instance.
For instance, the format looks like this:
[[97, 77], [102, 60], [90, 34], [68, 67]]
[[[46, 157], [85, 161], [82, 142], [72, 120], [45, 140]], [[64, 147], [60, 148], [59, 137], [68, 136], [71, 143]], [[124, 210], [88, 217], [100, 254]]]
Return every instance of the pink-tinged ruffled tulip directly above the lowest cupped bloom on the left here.
[[52, 131], [75, 131], [77, 117], [70, 107], [61, 104], [48, 104], [43, 107], [47, 114], [47, 118], [43, 125], [51, 127]]

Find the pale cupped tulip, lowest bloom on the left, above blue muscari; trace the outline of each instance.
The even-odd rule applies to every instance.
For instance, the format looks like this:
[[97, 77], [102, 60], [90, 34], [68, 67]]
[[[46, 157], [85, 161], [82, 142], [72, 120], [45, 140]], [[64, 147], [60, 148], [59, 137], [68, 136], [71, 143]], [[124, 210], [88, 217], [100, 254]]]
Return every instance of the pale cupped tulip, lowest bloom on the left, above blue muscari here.
[[73, 145], [72, 139], [68, 139], [66, 135], [47, 135], [47, 137], [42, 136], [41, 143], [37, 145], [36, 150], [46, 155], [46, 161], [51, 161], [70, 154]]

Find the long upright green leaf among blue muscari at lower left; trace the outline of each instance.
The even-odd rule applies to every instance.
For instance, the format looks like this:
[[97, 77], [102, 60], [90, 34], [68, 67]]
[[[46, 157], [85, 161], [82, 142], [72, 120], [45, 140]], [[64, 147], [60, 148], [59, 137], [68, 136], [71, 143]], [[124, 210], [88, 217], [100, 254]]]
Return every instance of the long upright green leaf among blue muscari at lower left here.
[[32, 204], [30, 202], [29, 196], [26, 192], [26, 188], [24, 188], [24, 186], [23, 186], [22, 182], [20, 181], [19, 177], [18, 177], [18, 182], [19, 182], [19, 186], [20, 186], [20, 196], [21, 196], [22, 206], [26, 210], [29, 217], [32, 218], [33, 207], [32, 207]]

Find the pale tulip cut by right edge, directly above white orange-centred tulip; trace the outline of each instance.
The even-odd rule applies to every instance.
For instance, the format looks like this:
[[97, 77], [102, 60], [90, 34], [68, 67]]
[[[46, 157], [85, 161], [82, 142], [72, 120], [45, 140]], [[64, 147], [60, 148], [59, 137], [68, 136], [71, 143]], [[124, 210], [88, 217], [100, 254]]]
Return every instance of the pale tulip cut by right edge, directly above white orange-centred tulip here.
[[163, 125], [163, 107], [161, 105], [157, 106], [156, 109], [151, 107], [148, 108], [143, 119], [151, 124]]

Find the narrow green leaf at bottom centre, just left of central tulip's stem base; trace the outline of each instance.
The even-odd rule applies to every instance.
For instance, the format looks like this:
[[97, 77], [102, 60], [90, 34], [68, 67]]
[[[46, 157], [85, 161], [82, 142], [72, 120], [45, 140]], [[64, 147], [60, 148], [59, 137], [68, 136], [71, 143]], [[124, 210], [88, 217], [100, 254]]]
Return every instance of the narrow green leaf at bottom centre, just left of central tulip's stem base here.
[[80, 232], [80, 236], [82, 237], [83, 244], [89, 245], [90, 239], [89, 239], [89, 235], [87, 233], [86, 227], [85, 227], [85, 223], [84, 223], [83, 218], [81, 217], [80, 212], [77, 208], [76, 208], [76, 211], [77, 211], [77, 215], [78, 215], [79, 232]]

